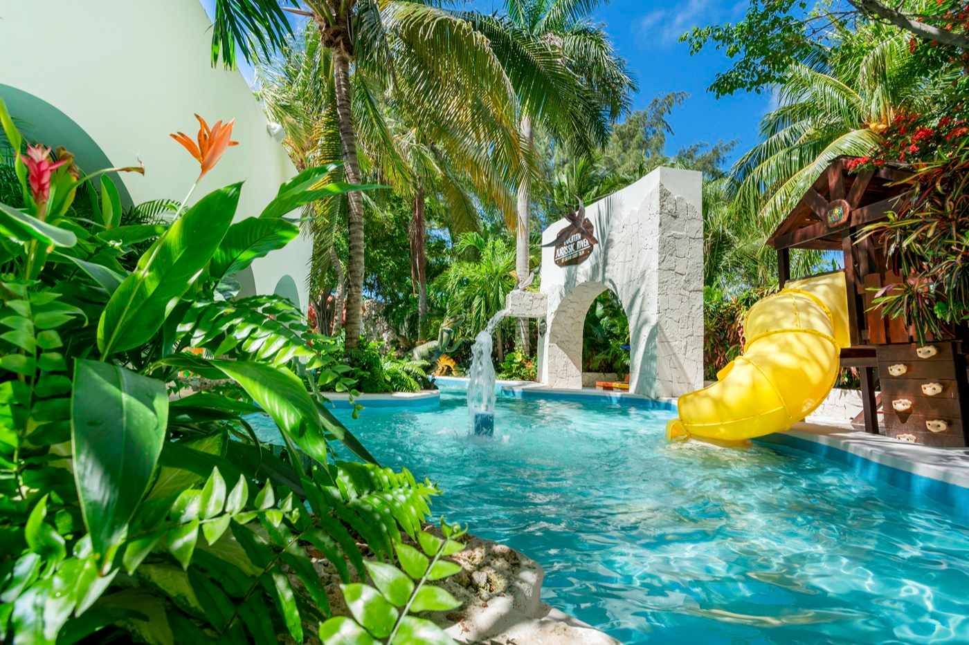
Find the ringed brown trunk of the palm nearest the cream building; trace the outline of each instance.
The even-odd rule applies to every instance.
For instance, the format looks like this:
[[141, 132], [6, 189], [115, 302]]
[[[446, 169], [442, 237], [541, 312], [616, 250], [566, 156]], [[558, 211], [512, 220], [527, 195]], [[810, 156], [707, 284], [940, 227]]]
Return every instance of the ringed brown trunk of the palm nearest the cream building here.
[[[333, 80], [336, 95], [336, 120], [340, 129], [343, 171], [351, 184], [360, 183], [357, 160], [357, 133], [350, 108], [350, 55], [342, 46], [333, 49]], [[347, 194], [347, 232], [349, 258], [347, 266], [347, 337], [346, 347], [356, 348], [360, 339], [363, 310], [363, 200], [359, 191]]]

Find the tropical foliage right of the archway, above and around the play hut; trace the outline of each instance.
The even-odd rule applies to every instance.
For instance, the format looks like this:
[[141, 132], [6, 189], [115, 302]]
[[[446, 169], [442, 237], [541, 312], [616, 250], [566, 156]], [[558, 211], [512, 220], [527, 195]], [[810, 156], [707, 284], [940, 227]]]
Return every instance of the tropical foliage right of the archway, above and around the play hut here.
[[[911, 0], [891, 7], [848, 3], [837, 10], [819, 4], [804, 11], [791, 2], [751, 3], [740, 22], [685, 37], [695, 50], [713, 43], [738, 58], [712, 90], [726, 94], [773, 84], [778, 103], [762, 122], [762, 142], [717, 187], [714, 197], [727, 207], [713, 217], [706, 206], [714, 189], [704, 186], [704, 281], [717, 290], [706, 294], [708, 378], [742, 338], [739, 320], [750, 294], [745, 290], [770, 287], [776, 279], [773, 252], [762, 240], [839, 156], [854, 158], [849, 169], [916, 169], [906, 182], [916, 197], [888, 223], [868, 230], [896, 270], [909, 276], [879, 293], [878, 304], [914, 324], [922, 338], [964, 320], [969, 283], [958, 270], [966, 230], [958, 196], [969, 54], [946, 36], [964, 39], [969, 15], [961, 5]], [[926, 38], [926, 25], [946, 33]], [[954, 200], [944, 197], [952, 195]], [[831, 261], [810, 252], [792, 260], [795, 275], [818, 272]]]

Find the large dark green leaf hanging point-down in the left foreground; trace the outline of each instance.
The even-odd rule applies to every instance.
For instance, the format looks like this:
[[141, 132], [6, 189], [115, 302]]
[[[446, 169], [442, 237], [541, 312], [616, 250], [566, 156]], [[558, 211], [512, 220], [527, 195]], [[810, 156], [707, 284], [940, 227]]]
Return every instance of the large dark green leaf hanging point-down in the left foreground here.
[[168, 415], [161, 381], [109, 363], [75, 362], [74, 476], [84, 524], [102, 560], [113, 553], [148, 487]]

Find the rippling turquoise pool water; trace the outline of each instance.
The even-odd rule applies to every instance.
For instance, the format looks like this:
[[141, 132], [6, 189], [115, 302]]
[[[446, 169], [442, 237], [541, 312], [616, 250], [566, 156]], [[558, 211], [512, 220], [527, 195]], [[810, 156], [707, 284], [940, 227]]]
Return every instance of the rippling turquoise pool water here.
[[472, 439], [463, 396], [343, 418], [619, 640], [969, 642], [969, 528], [944, 507], [809, 455], [667, 445], [664, 411], [499, 398], [494, 439]]

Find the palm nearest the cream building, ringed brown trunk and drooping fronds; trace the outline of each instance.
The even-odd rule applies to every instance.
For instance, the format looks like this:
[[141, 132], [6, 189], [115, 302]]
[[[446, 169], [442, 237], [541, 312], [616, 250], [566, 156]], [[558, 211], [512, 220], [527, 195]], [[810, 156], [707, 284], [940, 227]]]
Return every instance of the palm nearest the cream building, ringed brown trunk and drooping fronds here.
[[[291, 5], [289, 7], [283, 5]], [[220, 58], [234, 65], [238, 47], [247, 60], [257, 50], [268, 58], [284, 46], [290, 33], [286, 12], [302, 15], [319, 32], [328, 51], [328, 80], [332, 83], [332, 123], [335, 125], [348, 182], [362, 181], [359, 123], [355, 103], [367, 110], [360, 96], [362, 72], [398, 97], [406, 96], [429, 116], [453, 115], [465, 135], [480, 132], [478, 115], [487, 108], [506, 133], [497, 152], [514, 157], [510, 168], [521, 168], [516, 136], [516, 93], [487, 40], [463, 19], [422, 3], [400, 0], [215, 0], [212, 33], [213, 63]], [[352, 73], [353, 70], [353, 73]], [[394, 160], [391, 159], [391, 162]], [[363, 197], [347, 196], [349, 245], [346, 346], [359, 344], [363, 291]]]

